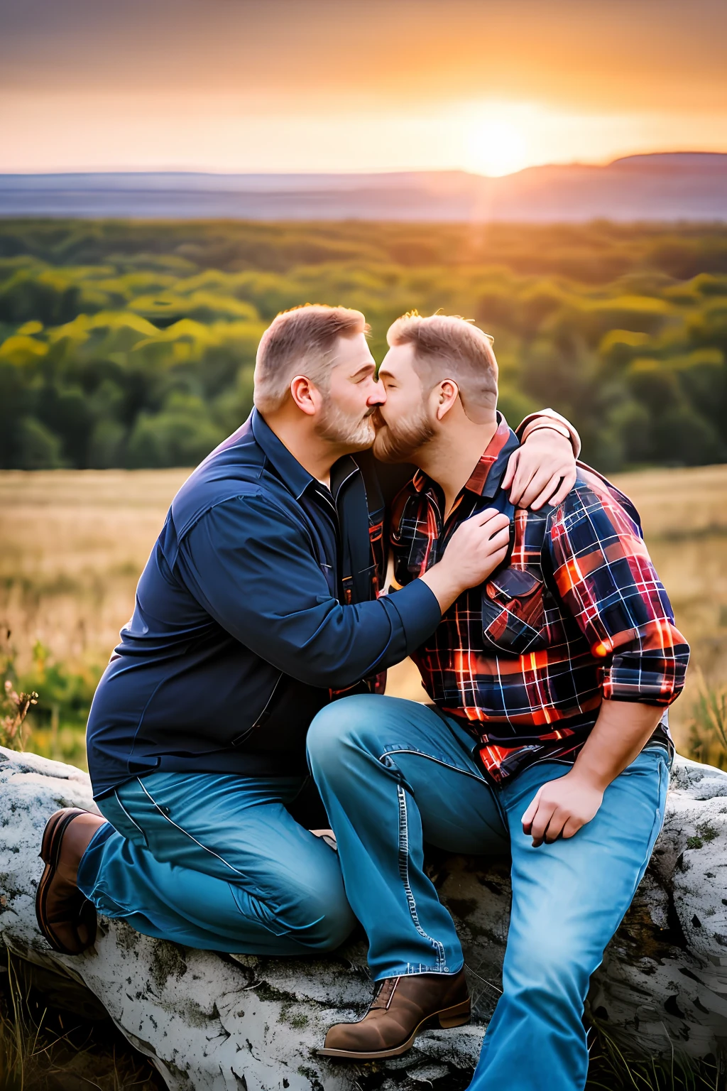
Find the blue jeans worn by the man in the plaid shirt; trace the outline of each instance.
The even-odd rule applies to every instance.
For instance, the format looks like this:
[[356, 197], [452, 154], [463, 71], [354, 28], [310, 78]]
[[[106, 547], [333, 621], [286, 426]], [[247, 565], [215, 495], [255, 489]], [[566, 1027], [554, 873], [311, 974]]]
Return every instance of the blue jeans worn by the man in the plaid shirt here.
[[474, 745], [424, 705], [355, 696], [318, 712], [308, 762], [377, 980], [457, 973], [463, 964], [452, 920], [424, 872], [423, 841], [452, 852], [511, 852], [504, 991], [471, 1088], [580, 1091], [589, 979], [662, 827], [668, 755], [644, 750], [575, 837], [534, 849], [521, 816], [541, 784], [569, 766], [535, 765], [494, 788], [473, 760]]

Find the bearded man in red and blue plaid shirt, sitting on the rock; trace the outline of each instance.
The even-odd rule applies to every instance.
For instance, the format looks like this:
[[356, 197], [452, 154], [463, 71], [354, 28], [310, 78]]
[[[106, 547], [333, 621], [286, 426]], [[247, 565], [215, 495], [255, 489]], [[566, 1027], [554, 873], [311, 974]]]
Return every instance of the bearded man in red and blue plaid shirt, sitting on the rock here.
[[411, 314], [388, 339], [374, 451], [419, 467], [391, 513], [395, 585], [427, 572], [465, 519], [501, 544], [485, 584], [413, 656], [432, 706], [350, 697], [311, 727], [308, 760], [377, 983], [366, 1016], [331, 1028], [322, 1053], [397, 1056], [432, 1020], [468, 1020], [462, 950], [423, 841], [510, 851], [504, 992], [472, 1088], [575, 1091], [589, 980], [662, 825], [665, 710], [689, 648], [639, 515], [608, 481], [581, 467], [547, 506], [513, 509], [518, 440], [496, 413], [486, 335]]

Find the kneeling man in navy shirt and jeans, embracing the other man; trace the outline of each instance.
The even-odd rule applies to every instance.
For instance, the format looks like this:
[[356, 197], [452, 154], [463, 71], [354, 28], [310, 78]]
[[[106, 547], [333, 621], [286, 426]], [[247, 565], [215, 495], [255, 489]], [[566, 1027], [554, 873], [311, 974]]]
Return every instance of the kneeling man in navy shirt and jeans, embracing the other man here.
[[[256, 408], [172, 501], [88, 719], [104, 818], [66, 808], [44, 834], [36, 910], [60, 951], [93, 944], [97, 909], [257, 955], [328, 950], [354, 923], [336, 853], [290, 813], [307, 727], [341, 692], [371, 692], [509, 541], [507, 517], [476, 516], [422, 578], [377, 597], [383, 505], [351, 457], [385, 400], [365, 332], [341, 308], [278, 315]], [[521, 457], [521, 491], [574, 477], [553, 425]]]

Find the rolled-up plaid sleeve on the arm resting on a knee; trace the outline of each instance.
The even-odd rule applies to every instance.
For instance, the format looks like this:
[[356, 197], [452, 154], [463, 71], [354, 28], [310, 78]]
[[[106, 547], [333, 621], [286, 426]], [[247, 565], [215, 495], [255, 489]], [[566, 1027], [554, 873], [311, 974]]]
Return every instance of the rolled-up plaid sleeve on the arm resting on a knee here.
[[550, 518], [547, 543], [560, 598], [603, 662], [604, 697], [670, 705], [689, 645], [639, 527], [605, 483], [577, 484]]

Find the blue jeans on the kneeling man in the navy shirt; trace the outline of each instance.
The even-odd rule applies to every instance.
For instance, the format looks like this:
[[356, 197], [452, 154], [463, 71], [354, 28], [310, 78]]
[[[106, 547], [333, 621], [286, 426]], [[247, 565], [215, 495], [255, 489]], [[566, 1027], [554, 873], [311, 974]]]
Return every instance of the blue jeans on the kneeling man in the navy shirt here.
[[336, 852], [287, 810], [301, 778], [155, 772], [99, 801], [78, 886], [107, 916], [187, 947], [332, 950], [355, 924]]

